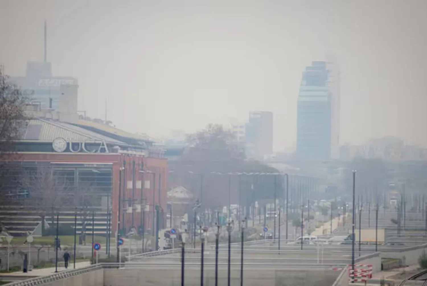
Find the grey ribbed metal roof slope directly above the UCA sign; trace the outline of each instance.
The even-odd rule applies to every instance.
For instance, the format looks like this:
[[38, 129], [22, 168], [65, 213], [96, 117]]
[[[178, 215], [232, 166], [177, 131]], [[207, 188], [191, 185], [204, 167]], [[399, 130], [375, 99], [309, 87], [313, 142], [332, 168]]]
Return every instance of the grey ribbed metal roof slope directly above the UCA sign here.
[[35, 118], [29, 120], [23, 134], [23, 140], [51, 142], [55, 138], [62, 137], [66, 140], [77, 142], [105, 140], [105, 142], [108, 143], [126, 145], [126, 143], [122, 141], [107, 136], [102, 136], [101, 134], [74, 126], [73, 124], [45, 118]]

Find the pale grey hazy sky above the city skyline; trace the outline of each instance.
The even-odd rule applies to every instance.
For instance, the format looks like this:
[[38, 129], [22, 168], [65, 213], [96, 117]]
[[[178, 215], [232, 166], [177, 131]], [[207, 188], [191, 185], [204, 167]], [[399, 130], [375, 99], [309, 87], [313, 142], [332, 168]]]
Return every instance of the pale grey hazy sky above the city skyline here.
[[0, 63], [48, 61], [79, 80], [79, 109], [151, 136], [274, 112], [275, 150], [296, 141], [301, 71], [334, 53], [340, 143], [427, 146], [426, 0], [0, 0]]

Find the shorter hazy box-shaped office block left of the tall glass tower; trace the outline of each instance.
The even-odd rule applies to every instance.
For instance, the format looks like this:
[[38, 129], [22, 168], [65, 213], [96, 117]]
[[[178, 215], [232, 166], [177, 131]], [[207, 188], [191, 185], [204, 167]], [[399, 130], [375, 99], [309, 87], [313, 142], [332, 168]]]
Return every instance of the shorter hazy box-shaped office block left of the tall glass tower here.
[[263, 160], [273, 153], [273, 112], [249, 112], [245, 129], [246, 157]]

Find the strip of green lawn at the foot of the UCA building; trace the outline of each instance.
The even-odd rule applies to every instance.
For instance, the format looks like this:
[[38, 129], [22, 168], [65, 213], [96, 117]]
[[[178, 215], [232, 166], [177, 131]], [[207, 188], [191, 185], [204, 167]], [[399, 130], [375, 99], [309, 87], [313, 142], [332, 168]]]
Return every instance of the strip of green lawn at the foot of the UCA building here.
[[[34, 236], [34, 240], [31, 243], [31, 245], [51, 245], [53, 246], [53, 243], [55, 241], [55, 236]], [[12, 239], [11, 244], [18, 246], [23, 245], [25, 242], [26, 237], [25, 236], [16, 236]], [[74, 245], [74, 236], [59, 236], [59, 239], [61, 240], [61, 245]], [[115, 244], [115, 239], [111, 237], [111, 244]], [[92, 242], [92, 236], [86, 235], [86, 245], [91, 245]], [[79, 244], [79, 236], [76, 237], [76, 243]], [[95, 236], [94, 237], [94, 243], [100, 243], [105, 244], [106, 238], [104, 236]]]

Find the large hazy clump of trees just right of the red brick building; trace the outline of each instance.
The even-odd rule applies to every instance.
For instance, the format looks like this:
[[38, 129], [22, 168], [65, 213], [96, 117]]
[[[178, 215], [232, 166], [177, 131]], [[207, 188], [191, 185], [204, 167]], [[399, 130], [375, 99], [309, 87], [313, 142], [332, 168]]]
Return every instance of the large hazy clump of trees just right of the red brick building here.
[[[273, 198], [272, 189], [263, 188], [263, 193], [250, 192], [254, 178], [237, 175], [238, 173], [277, 173], [278, 171], [260, 162], [247, 161], [239, 149], [234, 135], [218, 124], [209, 124], [204, 130], [187, 137], [188, 146], [179, 160], [170, 162], [169, 168], [174, 172], [169, 175], [172, 186], [183, 186], [193, 192], [196, 200], [201, 196], [202, 208], [222, 208], [228, 203], [228, 189], [232, 204], [240, 200], [243, 205], [258, 198]], [[189, 172], [193, 174], [189, 174]], [[211, 174], [220, 172], [222, 175]], [[232, 173], [230, 177], [228, 173]], [[265, 176], [264, 176], [265, 177]], [[272, 186], [272, 176], [269, 183]], [[267, 178], [259, 178], [259, 186]], [[265, 180], [263, 182], [262, 180]], [[281, 188], [280, 183], [278, 184]], [[266, 186], [266, 184], [264, 185]], [[257, 191], [257, 190], [255, 190]], [[278, 191], [278, 193], [281, 193]]]

